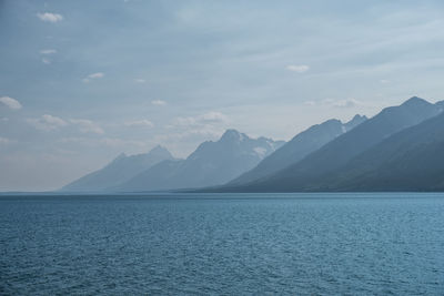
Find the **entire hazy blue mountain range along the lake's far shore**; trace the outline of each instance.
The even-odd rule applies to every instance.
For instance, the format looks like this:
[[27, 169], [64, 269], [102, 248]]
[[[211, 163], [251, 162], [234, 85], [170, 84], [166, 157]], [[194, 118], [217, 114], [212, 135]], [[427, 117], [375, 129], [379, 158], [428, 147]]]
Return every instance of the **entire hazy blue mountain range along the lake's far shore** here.
[[[185, 160], [121, 155], [64, 191], [310, 192], [444, 190], [444, 101], [411, 98], [375, 116], [329, 120], [291, 141], [228, 130]], [[225, 184], [225, 185], [224, 185]], [[201, 190], [199, 190], [201, 188]]]

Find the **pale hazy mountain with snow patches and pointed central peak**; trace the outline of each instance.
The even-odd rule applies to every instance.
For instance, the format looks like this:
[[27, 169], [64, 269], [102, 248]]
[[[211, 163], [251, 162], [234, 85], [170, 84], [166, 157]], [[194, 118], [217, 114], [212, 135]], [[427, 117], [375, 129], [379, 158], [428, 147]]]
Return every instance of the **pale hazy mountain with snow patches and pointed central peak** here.
[[254, 167], [284, 142], [251, 139], [228, 130], [216, 142], [208, 141], [183, 161], [164, 161], [114, 190], [159, 191], [221, 185]]

